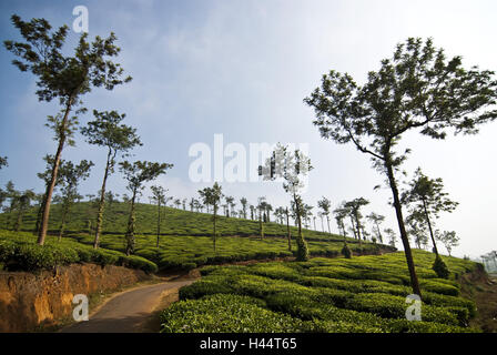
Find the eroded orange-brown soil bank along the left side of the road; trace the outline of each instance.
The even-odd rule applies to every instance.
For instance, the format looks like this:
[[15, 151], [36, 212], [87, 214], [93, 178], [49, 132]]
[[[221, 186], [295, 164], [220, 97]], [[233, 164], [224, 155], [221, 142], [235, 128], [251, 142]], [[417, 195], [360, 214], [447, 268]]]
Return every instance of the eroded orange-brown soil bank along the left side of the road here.
[[72, 314], [74, 295], [91, 296], [149, 280], [123, 266], [73, 264], [54, 271], [0, 272], [0, 332], [31, 332]]

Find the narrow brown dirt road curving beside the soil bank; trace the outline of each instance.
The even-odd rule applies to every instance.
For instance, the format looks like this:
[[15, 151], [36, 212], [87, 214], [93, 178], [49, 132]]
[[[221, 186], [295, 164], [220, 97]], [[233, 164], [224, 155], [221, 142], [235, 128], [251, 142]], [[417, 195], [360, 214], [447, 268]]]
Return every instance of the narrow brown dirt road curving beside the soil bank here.
[[71, 324], [61, 333], [140, 333], [150, 331], [148, 322], [169, 292], [195, 280], [170, 281], [141, 286], [112, 296], [87, 322]]

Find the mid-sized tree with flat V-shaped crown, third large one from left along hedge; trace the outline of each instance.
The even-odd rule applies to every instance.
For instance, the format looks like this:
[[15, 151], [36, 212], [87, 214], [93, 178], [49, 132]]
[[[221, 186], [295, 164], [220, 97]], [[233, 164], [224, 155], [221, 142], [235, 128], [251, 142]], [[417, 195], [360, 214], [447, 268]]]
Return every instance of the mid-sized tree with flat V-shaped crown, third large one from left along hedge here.
[[148, 181], [156, 179], [161, 174], [165, 174], [168, 169], [173, 168], [173, 164], [169, 163], [151, 163], [146, 161], [135, 161], [130, 163], [128, 161], [120, 162], [120, 171], [124, 174], [124, 179], [128, 181], [126, 189], [131, 192], [131, 206], [130, 215], [128, 219], [126, 227], [126, 255], [134, 253], [134, 204], [138, 194], [144, 189], [143, 184]]

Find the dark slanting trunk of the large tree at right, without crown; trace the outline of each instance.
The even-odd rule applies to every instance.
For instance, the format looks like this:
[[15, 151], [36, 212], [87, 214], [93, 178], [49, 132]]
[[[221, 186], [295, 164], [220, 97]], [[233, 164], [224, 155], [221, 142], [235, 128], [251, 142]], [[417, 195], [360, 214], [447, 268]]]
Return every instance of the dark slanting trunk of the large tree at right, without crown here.
[[422, 296], [422, 291], [419, 288], [419, 282], [417, 280], [416, 267], [414, 266], [413, 253], [410, 251], [409, 240], [407, 237], [406, 227], [404, 225], [404, 217], [402, 214], [400, 199], [398, 197], [397, 183], [394, 176], [394, 170], [392, 164], [385, 162], [385, 168], [387, 170], [388, 182], [392, 189], [392, 194], [394, 196], [395, 213], [397, 215], [398, 229], [400, 230], [400, 240], [404, 245], [404, 254], [406, 255], [407, 267], [410, 275], [410, 286], [413, 292], [419, 297]]

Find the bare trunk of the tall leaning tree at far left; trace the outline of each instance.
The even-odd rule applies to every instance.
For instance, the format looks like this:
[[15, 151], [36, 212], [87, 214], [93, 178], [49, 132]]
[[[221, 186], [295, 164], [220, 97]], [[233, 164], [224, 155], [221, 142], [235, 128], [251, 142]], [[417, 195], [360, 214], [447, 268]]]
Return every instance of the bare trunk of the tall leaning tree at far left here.
[[72, 97], [69, 98], [68, 104], [65, 106], [64, 116], [63, 116], [62, 123], [61, 123], [62, 126], [61, 126], [61, 132], [60, 132], [60, 138], [59, 138], [59, 146], [57, 148], [55, 160], [53, 162], [52, 176], [50, 178], [50, 183], [48, 184], [48, 187], [47, 187], [44, 209], [43, 209], [43, 213], [42, 213], [42, 217], [41, 217], [41, 227], [40, 227], [40, 232], [38, 234], [38, 244], [40, 244], [40, 245], [44, 244], [44, 239], [47, 236], [47, 231], [48, 231], [48, 226], [49, 226], [50, 203], [52, 202], [52, 193], [53, 193], [53, 189], [55, 187], [57, 175], [59, 173], [60, 159], [62, 155], [62, 150], [65, 144], [65, 126], [68, 124], [69, 113], [71, 112], [72, 100], [73, 100]]

